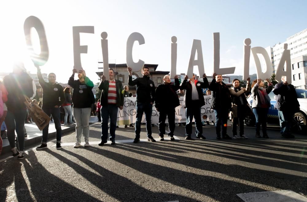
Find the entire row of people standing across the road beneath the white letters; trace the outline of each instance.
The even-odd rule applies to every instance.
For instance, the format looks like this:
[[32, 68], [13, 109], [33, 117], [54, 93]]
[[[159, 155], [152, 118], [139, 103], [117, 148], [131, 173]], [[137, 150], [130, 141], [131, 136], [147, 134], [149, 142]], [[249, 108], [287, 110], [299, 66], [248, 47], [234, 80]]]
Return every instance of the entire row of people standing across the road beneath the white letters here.
[[[186, 75], [184, 80], [179, 83], [177, 76], [174, 82], [171, 82], [169, 75], [165, 75], [163, 83], [155, 87], [154, 82], [150, 79], [150, 71], [148, 67], [142, 68], [142, 77], [132, 79], [132, 68], [128, 67], [129, 72], [128, 85], [136, 86], [136, 121], [135, 121], [135, 138], [133, 143], [140, 141], [141, 120], [143, 113], [146, 120], [147, 139], [150, 142], [156, 142], [152, 136], [151, 115], [153, 103], [159, 112], [159, 139], [164, 140], [165, 120], [168, 118], [169, 132], [168, 136], [174, 141], [175, 131], [175, 108], [180, 105], [178, 93], [184, 95], [184, 108], [186, 113], [185, 123], [185, 139], [192, 138], [192, 120], [194, 118], [197, 139], [206, 139], [203, 134], [203, 123], [201, 121], [201, 107], [204, 103], [203, 89], [208, 89], [208, 95], [211, 95], [211, 109], [213, 109], [216, 122], [216, 139], [247, 139], [244, 134], [244, 118], [246, 111], [252, 110], [255, 114], [255, 137], [269, 138], [266, 130], [267, 113], [270, 108], [270, 97], [268, 94], [273, 90], [273, 85], [269, 79], [266, 79], [267, 87], [265, 87], [262, 79], [256, 79], [252, 83], [250, 78], [247, 79], [246, 87], [240, 87], [239, 79], [232, 81], [232, 87], [229, 88], [223, 82], [223, 76], [214, 73], [212, 82], [209, 84], [206, 74], [202, 75], [203, 81], [197, 81], [195, 74], [192, 78]], [[86, 76], [82, 69], [72, 70], [72, 75], [68, 80], [68, 85], [63, 89], [56, 82], [56, 74], [48, 74], [48, 82], [44, 81], [41, 70], [37, 67], [37, 78], [43, 90], [42, 110], [51, 116], [56, 128], [56, 149], [61, 149], [61, 119], [60, 108], [64, 109], [64, 125], [75, 125], [76, 143], [74, 148], [80, 147], [81, 137], [84, 137], [84, 147], [89, 144], [89, 118], [91, 115], [97, 114], [99, 122], [101, 122], [101, 142], [99, 146], [107, 143], [107, 139], [111, 141], [111, 145], [115, 144], [115, 131], [117, 126], [118, 110], [123, 109], [124, 97], [131, 97], [129, 86], [122, 86], [122, 82], [115, 79], [115, 71], [109, 69], [109, 79], [102, 75], [101, 82], [98, 85], [102, 91], [101, 97], [95, 102], [92, 92], [94, 83]], [[77, 73], [78, 79], [75, 80]], [[71, 94], [71, 89], [73, 89]], [[10, 143], [13, 156], [17, 159], [24, 157], [24, 124], [27, 116], [27, 108], [24, 103], [25, 96], [31, 100], [36, 94], [36, 86], [33, 79], [27, 74], [23, 64], [14, 66], [13, 72], [5, 76], [3, 83], [0, 82], [0, 125], [5, 121], [7, 127], [7, 137]], [[294, 138], [291, 134], [291, 121], [293, 114], [299, 110], [299, 103], [295, 88], [288, 84], [285, 77], [282, 81], [275, 85], [274, 94], [276, 96], [278, 116], [280, 120], [281, 135], [284, 138]], [[247, 96], [252, 97], [252, 105], [247, 103]], [[165, 99], [167, 96], [168, 99]], [[41, 101], [33, 100], [33, 104], [39, 105]], [[227, 120], [229, 112], [232, 120], [231, 138], [227, 134]], [[73, 123], [73, 118], [76, 124]], [[110, 123], [110, 125], [109, 125]], [[125, 128], [128, 125], [125, 125]], [[130, 127], [132, 125], [130, 124]], [[239, 126], [239, 135], [237, 128]], [[262, 126], [262, 136], [260, 134], [260, 126]], [[49, 124], [42, 130], [41, 146], [37, 150], [47, 148]], [[17, 134], [19, 150], [15, 145], [15, 131]], [[109, 131], [109, 132], [108, 132]], [[109, 135], [110, 134], [110, 135]]]

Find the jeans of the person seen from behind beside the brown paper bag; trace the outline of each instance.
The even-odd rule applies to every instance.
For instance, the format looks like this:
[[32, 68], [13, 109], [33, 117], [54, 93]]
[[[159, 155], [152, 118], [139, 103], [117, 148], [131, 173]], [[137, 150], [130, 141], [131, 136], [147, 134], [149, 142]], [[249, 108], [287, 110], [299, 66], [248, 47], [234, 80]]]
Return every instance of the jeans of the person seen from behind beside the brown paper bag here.
[[24, 151], [25, 148], [25, 135], [23, 128], [25, 126], [25, 116], [27, 114], [26, 109], [22, 109], [18, 112], [7, 111], [5, 117], [5, 124], [7, 128], [7, 139], [9, 140], [11, 148], [15, 146], [15, 129], [17, 133], [17, 140], [19, 145], [19, 151]]

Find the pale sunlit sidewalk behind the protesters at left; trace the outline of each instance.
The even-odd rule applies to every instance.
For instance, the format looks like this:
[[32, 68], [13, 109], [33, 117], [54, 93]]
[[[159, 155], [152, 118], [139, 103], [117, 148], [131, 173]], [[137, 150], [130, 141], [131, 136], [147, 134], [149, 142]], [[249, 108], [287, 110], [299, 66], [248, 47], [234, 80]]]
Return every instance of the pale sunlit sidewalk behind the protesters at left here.
[[[91, 116], [90, 117], [90, 124], [95, 123], [98, 121], [97, 116]], [[75, 130], [75, 126], [64, 126], [64, 124], [61, 124], [62, 127], [62, 135], [67, 132], [72, 132]], [[28, 137], [25, 138], [25, 146], [29, 146], [31, 144], [40, 143], [41, 137], [42, 137], [42, 131], [40, 131], [35, 123], [29, 123], [25, 124], [25, 129], [27, 131]], [[49, 123], [49, 135], [48, 139], [52, 139], [56, 137], [56, 129], [54, 127], [53, 121], [50, 121]], [[7, 152], [11, 151], [10, 144], [7, 138], [2, 139], [3, 145], [2, 145], [2, 153], [5, 154]]]

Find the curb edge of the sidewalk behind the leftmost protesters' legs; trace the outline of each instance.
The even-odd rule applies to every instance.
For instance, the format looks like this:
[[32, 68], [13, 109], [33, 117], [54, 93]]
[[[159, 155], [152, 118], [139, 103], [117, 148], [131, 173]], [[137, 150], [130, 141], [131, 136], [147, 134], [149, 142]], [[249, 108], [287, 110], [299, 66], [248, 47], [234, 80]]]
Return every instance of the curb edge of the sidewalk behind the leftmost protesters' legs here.
[[[89, 122], [90, 125], [94, 124], [94, 123], [96, 123], [96, 122]], [[69, 128], [62, 129], [62, 137], [64, 136], [63, 135], [64, 133], [68, 133], [68, 132], [71, 132], [73, 130], [75, 130], [75, 127], [69, 127]], [[48, 139], [53, 139], [55, 137], [56, 137], [56, 132], [51, 132], [51, 133], [48, 134]], [[41, 138], [42, 138], [42, 135], [25, 139], [25, 148], [31, 147], [31, 145], [33, 145], [33, 144], [41, 143]], [[10, 145], [6, 145], [5, 147], [2, 147], [1, 155], [9, 153], [9, 152], [11, 152]]]

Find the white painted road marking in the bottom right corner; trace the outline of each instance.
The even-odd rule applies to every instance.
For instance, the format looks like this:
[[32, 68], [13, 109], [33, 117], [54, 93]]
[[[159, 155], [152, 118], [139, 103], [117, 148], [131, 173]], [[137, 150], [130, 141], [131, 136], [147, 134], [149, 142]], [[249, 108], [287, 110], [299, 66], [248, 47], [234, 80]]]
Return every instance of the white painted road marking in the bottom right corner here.
[[245, 202], [271, 202], [271, 201], [307, 201], [307, 198], [291, 190], [278, 190], [269, 192], [250, 192], [237, 194]]

